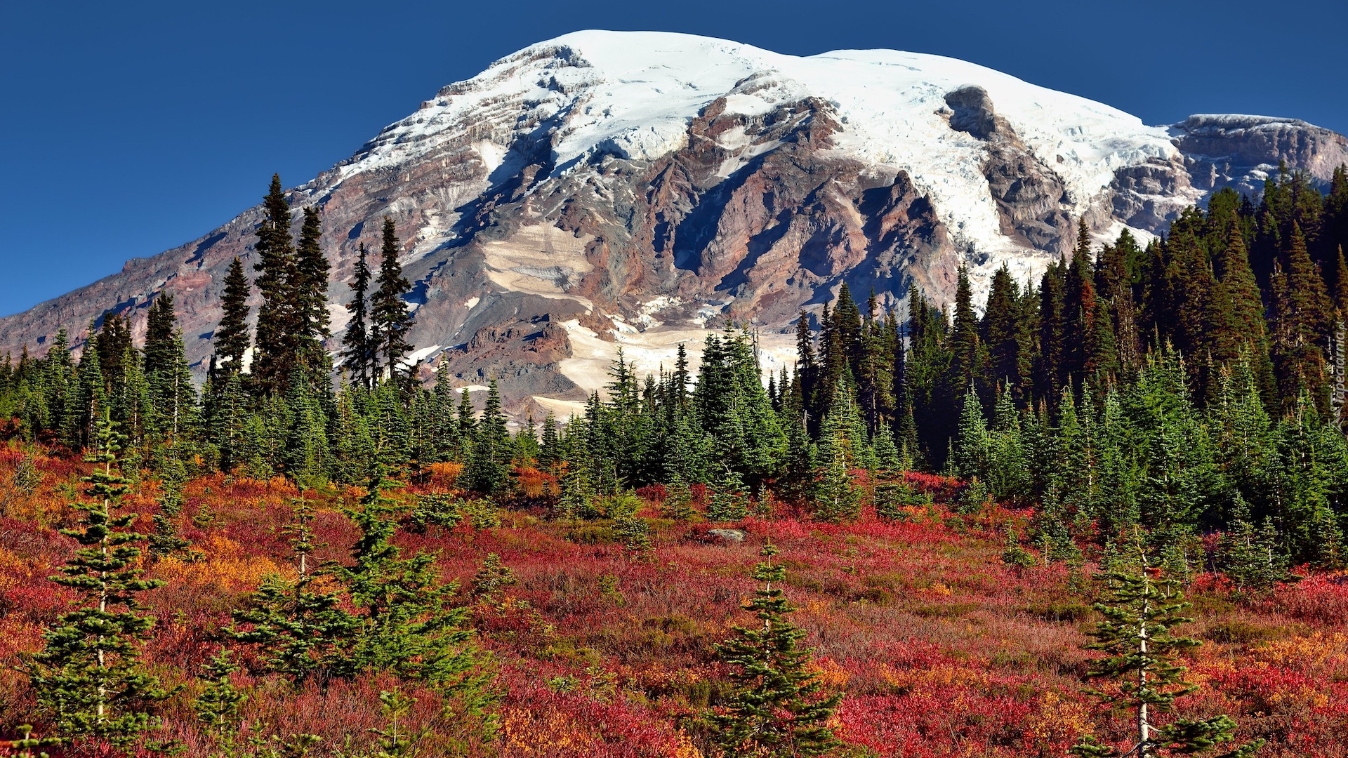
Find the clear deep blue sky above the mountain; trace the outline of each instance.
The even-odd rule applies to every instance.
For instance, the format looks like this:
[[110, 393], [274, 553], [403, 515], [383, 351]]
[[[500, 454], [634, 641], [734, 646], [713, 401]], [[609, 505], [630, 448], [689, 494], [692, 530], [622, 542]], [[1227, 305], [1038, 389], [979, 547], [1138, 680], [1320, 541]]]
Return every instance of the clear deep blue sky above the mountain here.
[[437, 89], [581, 28], [790, 54], [891, 47], [1173, 123], [1348, 132], [1348, 3], [435, 0], [8, 3], [0, 13], [0, 314], [228, 221]]

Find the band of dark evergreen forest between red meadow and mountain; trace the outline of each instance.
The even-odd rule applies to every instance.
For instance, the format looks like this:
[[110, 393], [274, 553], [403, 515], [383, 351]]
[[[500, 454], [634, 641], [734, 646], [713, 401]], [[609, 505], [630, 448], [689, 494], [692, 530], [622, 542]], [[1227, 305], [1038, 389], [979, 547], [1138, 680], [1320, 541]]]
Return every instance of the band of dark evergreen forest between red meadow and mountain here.
[[568, 513], [593, 495], [704, 483], [714, 518], [778, 498], [844, 519], [860, 508], [851, 469], [946, 469], [1041, 504], [1047, 537], [1033, 537], [1064, 550], [1134, 523], [1178, 538], [1267, 521], [1289, 558], [1337, 560], [1344, 169], [1328, 196], [1287, 170], [1258, 205], [1219, 192], [1146, 247], [1124, 232], [1092, 250], [1082, 225], [1074, 255], [1038, 283], [998, 271], [981, 316], [962, 270], [953, 303], [914, 289], [903, 322], [874, 297], [859, 308], [844, 286], [832, 308], [801, 314], [797, 364], [767, 386], [745, 330], [708, 337], [696, 372], [682, 348], [647, 376], [620, 355], [607, 398], [514, 434], [495, 383], [477, 413], [445, 364], [430, 386], [411, 380], [410, 285], [391, 220], [376, 267], [360, 247], [334, 390], [319, 216], [305, 209], [293, 240], [276, 178], [264, 208], [257, 276], [249, 285], [237, 260], [229, 270], [200, 397], [173, 299], [159, 295], [142, 349], [108, 314], [78, 363], [63, 334], [43, 359], [7, 360], [0, 417], [78, 449], [106, 409], [132, 464], [306, 484], [363, 483], [375, 460], [406, 477], [458, 461], [464, 484], [496, 495], [518, 467], [537, 467], [559, 479], [551, 496]]

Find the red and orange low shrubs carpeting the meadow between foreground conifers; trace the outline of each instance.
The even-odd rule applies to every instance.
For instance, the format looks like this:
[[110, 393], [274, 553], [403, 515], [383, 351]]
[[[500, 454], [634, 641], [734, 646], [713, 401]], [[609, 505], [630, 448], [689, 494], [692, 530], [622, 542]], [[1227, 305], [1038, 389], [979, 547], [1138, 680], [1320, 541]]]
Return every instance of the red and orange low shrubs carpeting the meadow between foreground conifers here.
[[[15, 472], [31, 461], [38, 482]], [[30, 465], [30, 464], [24, 464]], [[77, 514], [69, 503], [88, 464], [11, 445], [0, 449], [0, 724], [43, 728], [22, 655], [42, 646], [42, 631], [70, 602], [51, 576], [73, 552], [58, 533]], [[825, 688], [844, 695], [838, 736], [855, 755], [1064, 755], [1084, 732], [1123, 735], [1122, 719], [1097, 711], [1082, 693], [1093, 653], [1085, 631], [1097, 619], [1095, 558], [1072, 568], [1042, 561], [1003, 562], [1004, 529], [1030, 514], [985, 506], [958, 514], [960, 484], [909, 475], [934, 495], [930, 506], [880, 519], [867, 506], [859, 521], [818, 523], [783, 506], [758, 508], [739, 529], [743, 541], [709, 534], [700, 519], [662, 514], [661, 487], [639, 492], [638, 515], [650, 549], [634, 550], [605, 519], [555, 519], [542, 494], [555, 482], [520, 472], [520, 492], [495, 514], [469, 514], [454, 526], [411, 518], [418, 495], [452, 491], [457, 471], [395, 490], [406, 508], [395, 542], [437, 556], [460, 585], [481, 646], [491, 651], [500, 701], [496, 736], [481, 739], [446, 715], [434, 692], [402, 684], [417, 701], [404, 716], [423, 755], [702, 755], [706, 712], [727, 693], [714, 645], [733, 624], [749, 623], [743, 603], [759, 550], [771, 542], [787, 568], [786, 595], [816, 650]], [[865, 475], [856, 472], [864, 483]], [[154, 530], [159, 483], [144, 479], [127, 498], [140, 531]], [[313, 499], [313, 558], [348, 561], [357, 529], [342, 508], [359, 488], [306, 492]], [[182, 557], [146, 560], [147, 576], [166, 584], [146, 593], [158, 623], [144, 662], [179, 689], [160, 712], [162, 738], [185, 755], [210, 755], [193, 711], [202, 664], [226, 641], [231, 610], [241, 607], [270, 573], [297, 571], [284, 526], [299, 492], [267, 482], [205, 476], [183, 487], [178, 533], [191, 541]], [[693, 492], [693, 507], [705, 507]], [[474, 583], [489, 554], [514, 581]], [[1188, 589], [1204, 641], [1189, 661], [1202, 685], [1181, 699], [1185, 715], [1225, 712], [1243, 740], [1260, 736], [1259, 755], [1348, 755], [1348, 575], [1313, 573], [1267, 596], [1236, 595], [1224, 580], [1200, 575]], [[380, 692], [388, 678], [356, 678], [298, 691], [275, 677], [233, 676], [247, 695], [244, 730], [278, 754], [299, 754], [295, 735], [319, 742], [310, 755], [368, 754], [386, 728]], [[57, 753], [54, 753], [57, 754]]]

